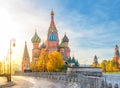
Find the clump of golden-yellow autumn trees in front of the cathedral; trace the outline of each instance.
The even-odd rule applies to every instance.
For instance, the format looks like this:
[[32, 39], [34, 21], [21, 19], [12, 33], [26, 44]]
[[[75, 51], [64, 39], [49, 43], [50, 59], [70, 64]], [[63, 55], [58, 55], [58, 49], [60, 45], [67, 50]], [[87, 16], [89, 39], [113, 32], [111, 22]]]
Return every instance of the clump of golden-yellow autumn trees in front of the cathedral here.
[[34, 71], [62, 71], [64, 66], [64, 60], [62, 59], [62, 54], [54, 51], [48, 53], [45, 50], [42, 50], [36, 64], [31, 64], [31, 68]]

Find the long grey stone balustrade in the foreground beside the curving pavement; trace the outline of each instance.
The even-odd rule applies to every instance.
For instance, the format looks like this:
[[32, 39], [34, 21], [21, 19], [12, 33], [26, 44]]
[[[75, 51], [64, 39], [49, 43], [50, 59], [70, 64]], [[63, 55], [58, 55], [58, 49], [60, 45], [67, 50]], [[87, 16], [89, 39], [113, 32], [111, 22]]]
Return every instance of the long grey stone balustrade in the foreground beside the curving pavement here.
[[[21, 76], [32, 76], [36, 78], [47, 78], [54, 81], [60, 81], [67, 83], [67, 85], [78, 85], [79, 88], [112, 88], [111, 84], [102, 83], [102, 79], [100, 77], [90, 77], [83, 75], [75, 75], [68, 76], [66, 73], [58, 73], [58, 72], [31, 72], [31, 73], [20, 73], [16, 75]], [[118, 84], [114, 85], [114, 88], [119, 88]]]

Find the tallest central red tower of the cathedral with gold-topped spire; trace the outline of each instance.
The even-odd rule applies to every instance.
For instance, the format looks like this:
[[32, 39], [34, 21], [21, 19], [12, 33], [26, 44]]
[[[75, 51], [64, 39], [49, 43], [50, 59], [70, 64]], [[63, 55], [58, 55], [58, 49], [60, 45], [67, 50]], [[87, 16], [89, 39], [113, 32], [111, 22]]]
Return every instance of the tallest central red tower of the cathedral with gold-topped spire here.
[[58, 45], [58, 31], [54, 23], [54, 12], [51, 11], [51, 23], [47, 34], [46, 49], [48, 50], [48, 52], [58, 51]]

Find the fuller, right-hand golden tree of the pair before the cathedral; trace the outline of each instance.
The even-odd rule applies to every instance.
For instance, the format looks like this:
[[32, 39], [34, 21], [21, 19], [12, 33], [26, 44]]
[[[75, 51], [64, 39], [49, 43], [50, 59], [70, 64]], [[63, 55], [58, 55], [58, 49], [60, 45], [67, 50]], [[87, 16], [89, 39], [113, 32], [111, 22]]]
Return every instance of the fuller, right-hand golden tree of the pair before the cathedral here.
[[47, 62], [47, 70], [59, 72], [63, 70], [64, 60], [62, 58], [62, 54], [54, 51], [48, 55], [49, 60]]

